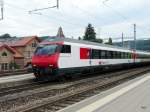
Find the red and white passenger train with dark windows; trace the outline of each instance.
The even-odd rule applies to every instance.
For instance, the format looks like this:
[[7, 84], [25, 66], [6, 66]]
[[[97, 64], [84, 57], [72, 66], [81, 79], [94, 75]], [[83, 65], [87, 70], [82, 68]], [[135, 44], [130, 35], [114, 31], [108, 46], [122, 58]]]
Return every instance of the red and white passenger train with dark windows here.
[[150, 53], [89, 41], [48, 38], [36, 49], [32, 67], [37, 79], [150, 63]]

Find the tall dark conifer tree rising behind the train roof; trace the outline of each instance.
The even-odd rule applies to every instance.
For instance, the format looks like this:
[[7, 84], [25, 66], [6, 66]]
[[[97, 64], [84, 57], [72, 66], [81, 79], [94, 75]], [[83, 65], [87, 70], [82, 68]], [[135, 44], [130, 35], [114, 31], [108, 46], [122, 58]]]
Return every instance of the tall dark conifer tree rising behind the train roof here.
[[88, 24], [85, 30], [85, 35], [83, 36], [83, 40], [96, 40], [96, 33], [92, 24]]

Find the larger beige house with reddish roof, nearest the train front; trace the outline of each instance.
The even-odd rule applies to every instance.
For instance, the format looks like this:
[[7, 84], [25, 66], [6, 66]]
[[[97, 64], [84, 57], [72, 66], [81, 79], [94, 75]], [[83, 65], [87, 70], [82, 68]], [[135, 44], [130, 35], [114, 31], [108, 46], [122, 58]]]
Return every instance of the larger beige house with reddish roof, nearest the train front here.
[[11, 48], [13, 48], [16, 52], [15, 62], [21, 68], [24, 68], [31, 62], [33, 53], [35, 52], [36, 47], [39, 43], [40, 39], [37, 36], [28, 36], [21, 38], [15, 43], [10, 44]]

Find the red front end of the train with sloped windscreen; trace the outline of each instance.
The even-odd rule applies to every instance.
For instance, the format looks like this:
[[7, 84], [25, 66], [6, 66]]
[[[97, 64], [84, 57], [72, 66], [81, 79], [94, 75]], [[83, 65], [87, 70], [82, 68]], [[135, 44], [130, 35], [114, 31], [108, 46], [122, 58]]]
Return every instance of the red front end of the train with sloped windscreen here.
[[37, 47], [32, 57], [32, 69], [39, 80], [51, 80], [57, 75], [60, 45], [46, 44]]

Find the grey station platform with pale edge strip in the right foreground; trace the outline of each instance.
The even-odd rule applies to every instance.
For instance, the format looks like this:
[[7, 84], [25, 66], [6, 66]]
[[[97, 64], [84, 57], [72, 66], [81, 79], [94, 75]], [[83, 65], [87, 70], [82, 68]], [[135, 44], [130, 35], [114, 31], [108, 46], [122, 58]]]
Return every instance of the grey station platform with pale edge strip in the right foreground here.
[[150, 112], [150, 73], [58, 112]]

